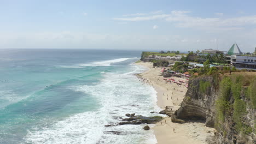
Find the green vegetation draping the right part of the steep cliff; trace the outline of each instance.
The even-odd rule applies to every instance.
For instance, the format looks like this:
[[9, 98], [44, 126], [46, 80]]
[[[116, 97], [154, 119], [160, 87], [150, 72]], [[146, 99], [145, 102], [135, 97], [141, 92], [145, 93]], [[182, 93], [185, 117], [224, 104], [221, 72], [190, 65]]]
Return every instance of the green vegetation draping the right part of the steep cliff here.
[[[250, 77], [250, 76], [249, 76]], [[249, 88], [243, 86], [249, 85]], [[256, 78], [249, 80], [248, 76], [232, 75], [223, 77], [216, 100], [216, 129], [223, 130], [227, 117], [231, 116], [237, 133], [250, 134], [254, 128], [245, 122], [247, 104], [255, 109]], [[234, 102], [232, 102], [234, 101]]]

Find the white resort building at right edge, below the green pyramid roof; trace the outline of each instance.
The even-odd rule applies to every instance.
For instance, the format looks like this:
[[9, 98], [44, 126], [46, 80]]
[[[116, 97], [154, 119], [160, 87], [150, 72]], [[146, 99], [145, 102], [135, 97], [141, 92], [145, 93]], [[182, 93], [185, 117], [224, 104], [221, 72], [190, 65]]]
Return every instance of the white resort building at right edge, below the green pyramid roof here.
[[230, 56], [230, 63], [238, 69], [256, 69], [256, 56]]

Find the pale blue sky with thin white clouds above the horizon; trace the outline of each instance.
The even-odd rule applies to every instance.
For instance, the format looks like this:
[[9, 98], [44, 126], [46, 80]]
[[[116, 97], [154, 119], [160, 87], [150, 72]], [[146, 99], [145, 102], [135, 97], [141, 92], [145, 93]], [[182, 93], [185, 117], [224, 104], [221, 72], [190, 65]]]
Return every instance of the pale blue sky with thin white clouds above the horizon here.
[[0, 0], [0, 49], [256, 47], [255, 0]]

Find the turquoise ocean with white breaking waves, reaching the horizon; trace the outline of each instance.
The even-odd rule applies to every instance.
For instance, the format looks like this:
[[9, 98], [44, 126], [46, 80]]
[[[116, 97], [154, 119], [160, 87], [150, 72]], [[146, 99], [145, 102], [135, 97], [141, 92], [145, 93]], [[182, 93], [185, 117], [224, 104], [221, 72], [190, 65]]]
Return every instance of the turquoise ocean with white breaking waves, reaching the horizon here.
[[134, 75], [146, 70], [134, 64], [140, 55], [1, 49], [0, 143], [156, 143], [144, 124], [104, 127], [160, 110], [154, 88]]

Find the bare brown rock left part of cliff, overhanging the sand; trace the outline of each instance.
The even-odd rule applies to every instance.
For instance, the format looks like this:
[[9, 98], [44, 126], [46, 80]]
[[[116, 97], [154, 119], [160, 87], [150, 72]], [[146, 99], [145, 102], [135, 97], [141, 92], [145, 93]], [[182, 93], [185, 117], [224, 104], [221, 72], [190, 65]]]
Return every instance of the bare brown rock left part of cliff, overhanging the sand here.
[[214, 127], [213, 111], [214, 102], [217, 97], [213, 86], [206, 87], [206, 92], [200, 92], [200, 81], [213, 81], [212, 77], [203, 79], [195, 78], [189, 81], [188, 91], [183, 99], [181, 107], [176, 111], [177, 118], [202, 119], [208, 127]]

